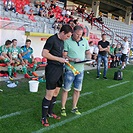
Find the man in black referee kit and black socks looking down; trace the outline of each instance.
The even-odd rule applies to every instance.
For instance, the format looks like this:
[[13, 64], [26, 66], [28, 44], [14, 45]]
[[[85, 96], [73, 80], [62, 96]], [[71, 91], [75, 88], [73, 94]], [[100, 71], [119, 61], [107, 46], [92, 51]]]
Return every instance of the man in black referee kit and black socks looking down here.
[[60, 119], [59, 116], [53, 113], [53, 107], [63, 82], [63, 64], [66, 62], [63, 58], [64, 40], [71, 35], [72, 28], [69, 25], [63, 25], [58, 34], [47, 39], [42, 51], [42, 56], [46, 57], [48, 62], [45, 69], [46, 95], [42, 100], [41, 120], [46, 127], [49, 126], [47, 117]]

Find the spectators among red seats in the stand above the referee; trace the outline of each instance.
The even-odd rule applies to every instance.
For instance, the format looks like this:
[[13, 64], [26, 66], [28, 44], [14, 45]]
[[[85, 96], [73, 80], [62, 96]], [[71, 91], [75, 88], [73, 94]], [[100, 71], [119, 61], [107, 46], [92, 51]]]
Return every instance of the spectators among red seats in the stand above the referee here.
[[[46, 0], [45, 2], [41, 2], [41, 0], [34, 0], [33, 3], [24, 5], [22, 12], [28, 15], [29, 19], [31, 19], [32, 21], [35, 21], [34, 19], [35, 15], [39, 15], [40, 17], [45, 17], [48, 19], [54, 18], [55, 21], [52, 24], [52, 28], [58, 31], [61, 29], [62, 25], [65, 24], [70, 24], [72, 27], [76, 25], [81, 25], [79, 23], [79, 18], [73, 17], [73, 11], [71, 11], [70, 9], [66, 9], [66, 7], [64, 7], [63, 9], [59, 8], [60, 11], [56, 12], [55, 11], [56, 7], [57, 6], [54, 0], [53, 1]], [[7, 0], [4, 3], [4, 8], [5, 11], [10, 10], [16, 12], [16, 7], [15, 4], [12, 2], [12, 0]], [[83, 5], [82, 12], [83, 10], [85, 11], [85, 8], [86, 5]], [[56, 16], [57, 14], [59, 14], [59, 16]]]

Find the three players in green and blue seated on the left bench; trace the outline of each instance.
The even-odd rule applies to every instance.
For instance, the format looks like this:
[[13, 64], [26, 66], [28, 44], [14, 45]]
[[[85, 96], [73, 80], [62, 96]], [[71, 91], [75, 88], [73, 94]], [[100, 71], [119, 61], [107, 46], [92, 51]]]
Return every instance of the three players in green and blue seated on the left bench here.
[[33, 63], [32, 75], [37, 77], [35, 70], [37, 62], [33, 56], [31, 40], [27, 39], [22, 47], [17, 46], [17, 39], [7, 40], [4, 45], [0, 46], [0, 62], [7, 64], [9, 78], [17, 77], [17, 67], [22, 65], [22, 71], [25, 78], [30, 78], [27, 72], [29, 63]]

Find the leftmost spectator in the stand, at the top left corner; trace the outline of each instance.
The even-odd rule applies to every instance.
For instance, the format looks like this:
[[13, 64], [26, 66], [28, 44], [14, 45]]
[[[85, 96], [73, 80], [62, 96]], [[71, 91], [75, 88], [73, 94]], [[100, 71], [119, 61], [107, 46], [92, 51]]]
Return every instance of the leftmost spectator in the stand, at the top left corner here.
[[16, 12], [15, 4], [11, 0], [6, 0], [4, 4], [5, 11], [8, 12], [8, 10]]

